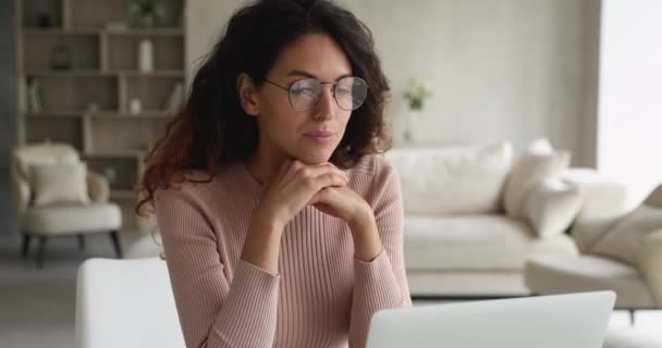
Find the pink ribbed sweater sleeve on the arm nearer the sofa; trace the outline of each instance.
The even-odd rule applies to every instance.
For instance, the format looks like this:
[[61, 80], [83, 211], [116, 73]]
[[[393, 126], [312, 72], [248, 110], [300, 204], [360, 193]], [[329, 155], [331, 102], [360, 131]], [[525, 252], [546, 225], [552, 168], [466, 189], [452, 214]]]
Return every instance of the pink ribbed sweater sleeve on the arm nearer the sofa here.
[[[354, 260], [354, 293], [350, 319], [350, 347], [366, 346], [372, 314], [391, 308], [412, 307], [403, 257], [403, 206], [397, 171], [387, 162], [378, 171], [379, 190], [372, 209], [384, 249], [373, 260]], [[381, 172], [381, 173], [379, 173]]]

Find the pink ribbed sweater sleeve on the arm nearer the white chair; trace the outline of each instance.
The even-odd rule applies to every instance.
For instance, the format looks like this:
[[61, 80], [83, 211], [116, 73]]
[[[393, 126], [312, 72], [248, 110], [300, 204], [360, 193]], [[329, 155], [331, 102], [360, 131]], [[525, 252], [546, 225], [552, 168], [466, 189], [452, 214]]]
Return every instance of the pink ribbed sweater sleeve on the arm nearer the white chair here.
[[186, 185], [158, 190], [156, 198], [186, 347], [272, 347], [280, 274], [240, 260], [231, 282], [199, 198]]

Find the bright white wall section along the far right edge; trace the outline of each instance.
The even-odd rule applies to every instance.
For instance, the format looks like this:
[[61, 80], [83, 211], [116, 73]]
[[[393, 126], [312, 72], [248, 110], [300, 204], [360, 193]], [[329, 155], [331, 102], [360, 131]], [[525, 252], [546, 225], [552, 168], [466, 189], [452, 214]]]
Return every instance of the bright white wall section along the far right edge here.
[[662, 183], [662, 1], [603, 0], [598, 169], [633, 200]]

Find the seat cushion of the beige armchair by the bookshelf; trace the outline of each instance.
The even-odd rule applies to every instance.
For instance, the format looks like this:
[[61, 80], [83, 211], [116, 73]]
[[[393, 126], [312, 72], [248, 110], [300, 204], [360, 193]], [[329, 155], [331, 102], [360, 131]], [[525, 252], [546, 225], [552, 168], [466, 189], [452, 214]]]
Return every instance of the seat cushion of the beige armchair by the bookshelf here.
[[122, 226], [122, 212], [113, 203], [30, 208], [21, 219], [23, 232], [45, 235], [106, 232]]

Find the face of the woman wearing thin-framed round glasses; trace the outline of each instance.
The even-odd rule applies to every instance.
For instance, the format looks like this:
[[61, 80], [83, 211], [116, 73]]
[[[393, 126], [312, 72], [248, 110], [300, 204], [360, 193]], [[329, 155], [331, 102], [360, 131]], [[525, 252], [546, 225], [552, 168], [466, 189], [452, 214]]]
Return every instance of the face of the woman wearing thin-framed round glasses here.
[[[350, 61], [338, 42], [326, 34], [308, 34], [279, 55], [266, 79], [290, 88], [302, 78], [334, 83], [351, 75]], [[327, 162], [342, 139], [352, 113], [335, 102], [332, 86], [322, 85], [321, 99], [308, 111], [296, 111], [290, 103], [289, 91], [273, 84], [265, 82], [257, 88], [258, 153], [275, 159], [296, 158], [308, 164]], [[312, 136], [316, 132], [331, 136]]]

